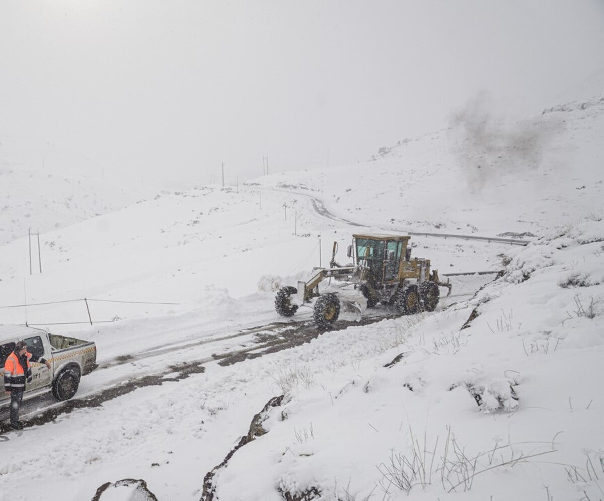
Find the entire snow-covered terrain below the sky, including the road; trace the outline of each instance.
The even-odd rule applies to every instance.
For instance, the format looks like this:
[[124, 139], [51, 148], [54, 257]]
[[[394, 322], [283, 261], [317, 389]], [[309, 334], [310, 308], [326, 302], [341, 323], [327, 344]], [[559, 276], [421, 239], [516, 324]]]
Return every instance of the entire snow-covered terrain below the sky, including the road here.
[[[27, 231], [0, 247], [2, 324], [94, 340], [99, 366], [70, 403], [28, 402], [22, 432], [2, 424], [2, 485], [50, 501], [604, 499], [604, 96], [522, 120], [485, 121], [483, 104], [365, 164], [69, 226], [51, 225], [65, 198], [38, 193], [57, 200], [43, 272]], [[81, 214], [119, 205], [86, 193]], [[7, 209], [15, 228], [25, 210]], [[384, 231], [533, 236], [415, 235], [442, 276], [492, 272], [451, 276], [433, 313], [343, 314], [327, 332], [304, 327], [310, 308], [275, 313], [333, 241], [345, 262], [353, 233]]]

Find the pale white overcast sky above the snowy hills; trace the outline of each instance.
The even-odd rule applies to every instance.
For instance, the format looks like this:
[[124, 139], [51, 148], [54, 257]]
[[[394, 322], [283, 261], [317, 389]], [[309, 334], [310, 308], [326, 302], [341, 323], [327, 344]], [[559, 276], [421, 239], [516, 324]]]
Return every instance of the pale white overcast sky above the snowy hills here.
[[602, 69], [602, 0], [0, 0], [0, 168], [341, 165], [477, 92], [538, 112]]

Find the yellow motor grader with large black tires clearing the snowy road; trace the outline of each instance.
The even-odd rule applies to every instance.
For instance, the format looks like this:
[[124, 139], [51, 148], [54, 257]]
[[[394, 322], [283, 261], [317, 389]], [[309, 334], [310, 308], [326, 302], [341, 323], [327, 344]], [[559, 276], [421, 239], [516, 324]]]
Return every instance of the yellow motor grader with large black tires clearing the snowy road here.
[[297, 287], [281, 287], [275, 297], [275, 310], [284, 317], [293, 316], [301, 304], [313, 304], [313, 319], [320, 328], [329, 328], [338, 319], [341, 301], [338, 292], [319, 292], [324, 279], [338, 281], [338, 287], [358, 291], [367, 307], [377, 303], [394, 305], [402, 315], [434, 311], [439, 304], [440, 289], [451, 284], [441, 282], [437, 270], [430, 270], [430, 260], [411, 258], [411, 237], [406, 235], [353, 235], [348, 257], [352, 264], [336, 263], [338, 244], [333, 243], [329, 268], [313, 269], [313, 276]]

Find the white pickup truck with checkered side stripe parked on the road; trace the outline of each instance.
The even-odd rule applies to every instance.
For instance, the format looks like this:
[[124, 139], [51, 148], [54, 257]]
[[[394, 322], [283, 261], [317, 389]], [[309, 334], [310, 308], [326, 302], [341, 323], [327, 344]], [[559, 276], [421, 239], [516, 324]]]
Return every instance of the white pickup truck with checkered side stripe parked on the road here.
[[[97, 366], [97, 348], [92, 341], [50, 334], [46, 330], [21, 325], [0, 325], [0, 371], [17, 341], [27, 343], [27, 351], [51, 363], [31, 362], [31, 383], [25, 385], [24, 400], [52, 391], [57, 400], [69, 400], [77, 392], [80, 377]], [[10, 395], [0, 391], [0, 406]]]

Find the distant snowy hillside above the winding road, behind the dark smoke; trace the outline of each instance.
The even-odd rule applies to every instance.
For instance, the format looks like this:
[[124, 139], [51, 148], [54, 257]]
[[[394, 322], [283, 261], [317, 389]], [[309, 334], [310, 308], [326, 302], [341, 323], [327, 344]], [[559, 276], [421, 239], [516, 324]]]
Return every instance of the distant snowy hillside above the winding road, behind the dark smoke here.
[[379, 148], [371, 162], [251, 183], [312, 193], [385, 229], [542, 236], [604, 209], [604, 97], [586, 95], [522, 120], [493, 116], [478, 97], [449, 129]]

